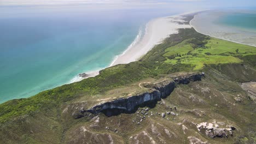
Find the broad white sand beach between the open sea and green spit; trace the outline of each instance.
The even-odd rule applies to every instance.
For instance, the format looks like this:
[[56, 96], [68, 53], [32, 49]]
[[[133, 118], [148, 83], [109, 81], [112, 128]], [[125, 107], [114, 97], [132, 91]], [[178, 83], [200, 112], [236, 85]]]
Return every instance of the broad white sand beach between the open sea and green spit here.
[[182, 18], [181, 16], [168, 16], [149, 21], [144, 37], [115, 59], [110, 66], [137, 61], [170, 34], [178, 33], [178, 28], [191, 27], [190, 25], [179, 25], [177, 22], [184, 22]]

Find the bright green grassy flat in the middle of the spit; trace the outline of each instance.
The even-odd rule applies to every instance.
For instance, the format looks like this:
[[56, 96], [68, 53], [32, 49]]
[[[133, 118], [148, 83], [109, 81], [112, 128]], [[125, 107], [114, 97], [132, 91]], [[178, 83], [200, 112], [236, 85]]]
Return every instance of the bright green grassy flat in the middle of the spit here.
[[[188, 39], [177, 45], [168, 47], [163, 55], [166, 63], [191, 64], [194, 70], [201, 70], [207, 64], [241, 63], [238, 56], [255, 55], [253, 46], [232, 43], [230, 41], [206, 37], [202, 45], [193, 45]], [[193, 47], [196, 46], [196, 47]]]

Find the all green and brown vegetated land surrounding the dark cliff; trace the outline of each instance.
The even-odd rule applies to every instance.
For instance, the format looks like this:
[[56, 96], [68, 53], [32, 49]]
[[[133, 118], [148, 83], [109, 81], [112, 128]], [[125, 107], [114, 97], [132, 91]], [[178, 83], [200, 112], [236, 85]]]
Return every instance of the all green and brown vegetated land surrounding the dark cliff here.
[[[199, 133], [195, 134], [196, 128], [191, 126], [193, 123], [190, 122], [211, 122], [212, 119], [217, 119], [234, 124], [240, 129], [236, 131], [239, 134], [235, 135], [237, 140], [228, 140], [253, 143], [256, 137], [255, 129], [249, 128], [255, 126], [255, 104], [247, 98], [246, 92], [238, 86], [237, 81], [256, 81], [255, 68], [255, 47], [211, 38], [197, 33], [193, 28], [180, 29], [178, 34], [170, 35], [164, 43], [156, 45], [138, 62], [116, 65], [100, 71], [100, 75], [96, 77], [50, 89], [31, 98], [10, 100], [1, 104], [0, 143], [72, 143], [72, 139], [80, 135], [80, 127], [88, 129], [92, 124], [92, 117], [72, 117], [72, 113], [80, 109], [79, 106], [90, 107], [96, 103], [91, 101], [98, 99], [126, 97], [135, 91], [144, 91], [138, 87], [139, 83], [154, 83], [164, 79], [166, 74], [191, 71], [205, 71], [207, 76], [202, 82], [178, 86], [170, 97], [165, 99], [166, 105], [178, 107], [179, 116], [168, 115], [168, 121], [155, 116], [143, 120], [147, 123], [142, 122], [138, 126], [132, 122], [132, 118], [136, 118], [133, 114], [109, 118], [100, 115], [103, 120], [96, 126], [90, 125], [88, 131], [92, 133], [86, 132], [86, 136], [101, 135], [102, 139], [105, 139], [105, 134], [111, 134], [114, 140], [123, 137], [127, 143], [130, 136], [139, 135], [142, 129], [154, 135], [150, 132], [154, 124], [159, 131], [162, 130], [162, 135], [166, 133], [165, 128], [173, 130], [173, 133], [170, 131], [169, 134], [171, 137], [177, 136], [177, 139], [173, 139], [174, 143], [184, 143], [183, 140], [189, 143], [187, 137], [190, 135], [196, 135], [210, 143], [228, 143], [225, 140], [211, 140]], [[234, 97], [237, 95], [240, 95], [242, 101], [235, 101]], [[200, 109], [199, 114], [195, 109]], [[156, 105], [152, 109], [154, 113], [167, 110], [164, 105]], [[207, 115], [202, 115], [200, 111], [207, 112]], [[186, 122], [184, 119], [187, 119]], [[191, 130], [184, 132], [177, 123], [183, 123]], [[118, 131], [123, 132], [106, 132], [105, 128], [110, 125], [115, 125], [113, 129], [118, 128]], [[243, 132], [246, 133], [245, 136], [242, 136]], [[10, 137], [15, 139], [11, 141]], [[153, 138], [158, 139], [158, 136]]]

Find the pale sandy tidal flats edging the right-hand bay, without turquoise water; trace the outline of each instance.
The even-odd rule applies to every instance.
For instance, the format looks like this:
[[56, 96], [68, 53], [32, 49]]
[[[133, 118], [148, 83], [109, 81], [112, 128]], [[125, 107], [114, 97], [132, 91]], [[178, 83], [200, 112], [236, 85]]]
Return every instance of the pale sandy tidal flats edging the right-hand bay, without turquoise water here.
[[196, 14], [194, 19], [189, 22], [189, 25], [192, 26], [196, 32], [209, 35], [213, 38], [256, 47], [256, 33], [246, 32], [243, 31], [243, 29], [238, 29], [236, 27], [217, 25], [213, 21], [217, 20], [219, 16], [227, 13], [219, 10], [213, 10], [213, 12], [214, 11], [215, 13], [212, 13], [212, 11], [204, 13], [207, 15], [207, 19], [205, 19], [205, 16], [202, 14]]

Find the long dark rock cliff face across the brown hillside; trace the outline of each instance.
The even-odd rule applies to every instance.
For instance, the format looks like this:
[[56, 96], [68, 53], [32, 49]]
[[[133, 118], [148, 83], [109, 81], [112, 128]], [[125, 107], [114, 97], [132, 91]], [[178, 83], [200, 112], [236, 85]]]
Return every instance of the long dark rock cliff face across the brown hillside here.
[[[151, 86], [151, 91], [142, 93], [139, 95], [133, 95], [128, 98], [120, 98], [113, 101], [108, 101], [103, 104], [98, 104], [89, 110], [79, 111], [83, 117], [83, 113], [100, 113], [103, 112], [107, 116], [116, 115], [118, 113], [131, 113], [136, 110], [139, 105], [147, 103], [156, 103], [161, 98], [166, 98], [176, 87], [176, 84], [187, 84], [190, 81], [200, 81], [203, 73], [188, 74], [176, 77], [174, 81], [165, 80], [159, 83], [155, 83]], [[77, 113], [76, 113], [77, 114]]]

